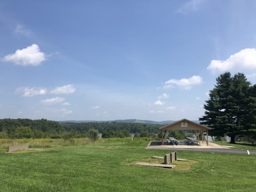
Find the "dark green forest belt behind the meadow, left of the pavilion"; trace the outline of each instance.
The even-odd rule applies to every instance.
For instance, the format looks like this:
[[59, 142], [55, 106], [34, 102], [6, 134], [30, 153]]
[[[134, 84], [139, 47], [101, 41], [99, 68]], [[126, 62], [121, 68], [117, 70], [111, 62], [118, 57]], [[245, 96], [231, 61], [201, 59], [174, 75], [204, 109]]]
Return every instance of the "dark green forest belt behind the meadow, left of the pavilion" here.
[[[98, 132], [114, 131], [116, 133], [159, 133], [163, 124], [140, 123], [59, 123], [47, 119], [0, 119], [1, 138], [65, 138], [68, 133], [74, 137], [86, 137], [89, 130]], [[125, 132], [124, 132], [125, 130]], [[118, 134], [116, 134], [118, 135]], [[70, 135], [69, 135], [70, 136]]]

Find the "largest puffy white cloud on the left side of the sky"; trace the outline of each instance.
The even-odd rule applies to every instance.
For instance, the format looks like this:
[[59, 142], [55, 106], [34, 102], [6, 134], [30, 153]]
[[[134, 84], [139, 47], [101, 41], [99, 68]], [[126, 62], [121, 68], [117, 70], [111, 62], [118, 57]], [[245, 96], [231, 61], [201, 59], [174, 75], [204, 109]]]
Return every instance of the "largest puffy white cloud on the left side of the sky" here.
[[46, 60], [46, 55], [43, 52], [40, 52], [39, 46], [37, 44], [32, 44], [27, 48], [22, 50], [17, 50], [13, 54], [5, 55], [4, 61], [10, 61], [16, 65], [33, 65], [37, 66], [42, 61]]

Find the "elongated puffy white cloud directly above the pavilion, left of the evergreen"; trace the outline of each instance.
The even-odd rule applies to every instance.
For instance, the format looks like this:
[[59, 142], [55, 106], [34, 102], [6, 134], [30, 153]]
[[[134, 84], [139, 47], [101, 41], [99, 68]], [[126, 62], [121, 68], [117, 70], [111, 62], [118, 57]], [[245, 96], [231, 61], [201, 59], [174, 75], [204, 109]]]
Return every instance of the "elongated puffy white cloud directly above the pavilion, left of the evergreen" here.
[[192, 88], [192, 85], [196, 85], [196, 84], [201, 84], [203, 82], [203, 79], [202, 77], [200, 76], [192, 76], [190, 77], [189, 79], [170, 79], [166, 82], [164, 82], [164, 84], [166, 84], [167, 86], [168, 85], [177, 85], [179, 86], [180, 88], [182, 89], [185, 89], [185, 90], [190, 90]]

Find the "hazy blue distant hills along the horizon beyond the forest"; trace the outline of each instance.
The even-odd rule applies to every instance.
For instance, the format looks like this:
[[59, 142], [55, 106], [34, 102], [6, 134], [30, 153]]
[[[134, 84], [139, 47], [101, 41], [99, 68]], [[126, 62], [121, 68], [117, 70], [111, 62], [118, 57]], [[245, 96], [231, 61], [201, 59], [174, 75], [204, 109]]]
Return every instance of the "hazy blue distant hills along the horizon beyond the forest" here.
[[[196, 123], [199, 123], [198, 120], [192, 120]], [[68, 121], [58, 121], [59, 123], [112, 123], [112, 122], [121, 122], [121, 123], [143, 123], [143, 124], [171, 124], [175, 121], [169, 120], [169, 121], [149, 121], [149, 120], [138, 120], [138, 119], [118, 119], [113, 121], [75, 121], [75, 120], [68, 120]]]

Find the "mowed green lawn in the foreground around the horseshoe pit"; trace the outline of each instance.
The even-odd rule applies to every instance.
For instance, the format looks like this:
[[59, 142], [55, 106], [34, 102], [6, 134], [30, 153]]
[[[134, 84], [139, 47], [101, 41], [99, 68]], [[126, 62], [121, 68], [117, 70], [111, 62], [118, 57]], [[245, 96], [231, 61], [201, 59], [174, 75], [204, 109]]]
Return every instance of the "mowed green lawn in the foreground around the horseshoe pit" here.
[[[189, 169], [135, 165], [173, 150], [149, 141], [55, 146], [6, 153], [0, 147], [0, 191], [255, 191], [256, 156], [178, 151]], [[6, 149], [7, 150], [7, 149]]]

